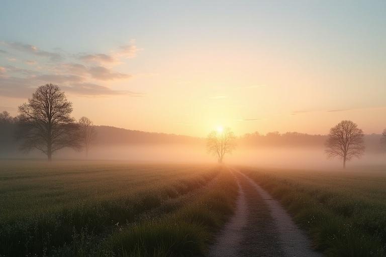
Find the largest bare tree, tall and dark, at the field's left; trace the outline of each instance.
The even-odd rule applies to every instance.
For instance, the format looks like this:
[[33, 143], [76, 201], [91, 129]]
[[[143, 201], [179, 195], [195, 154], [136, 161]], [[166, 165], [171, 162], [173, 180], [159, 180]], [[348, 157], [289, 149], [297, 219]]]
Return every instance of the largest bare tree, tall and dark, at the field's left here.
[[80, 149], [78, 124], [71, 112], [72, 103], [59, 86], [39, 86], [28, 102], [19, 106], [22, 149], [37, 149], [47, 155], [48, 161], [62, 148]]

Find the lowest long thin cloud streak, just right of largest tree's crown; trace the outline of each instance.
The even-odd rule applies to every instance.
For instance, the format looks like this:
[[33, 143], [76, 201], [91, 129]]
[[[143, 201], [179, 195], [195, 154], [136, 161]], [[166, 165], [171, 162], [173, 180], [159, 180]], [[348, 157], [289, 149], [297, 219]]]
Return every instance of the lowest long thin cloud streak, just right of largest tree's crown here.
[[107, 86], [96, 85], [92, 83], [76, 83], [70, 86], [62, 86], [64, 91], [72, 92], [79, 95], [129, 95], [143, 96], [142, 93], [135, 93], [126, 90], [112, 90]]

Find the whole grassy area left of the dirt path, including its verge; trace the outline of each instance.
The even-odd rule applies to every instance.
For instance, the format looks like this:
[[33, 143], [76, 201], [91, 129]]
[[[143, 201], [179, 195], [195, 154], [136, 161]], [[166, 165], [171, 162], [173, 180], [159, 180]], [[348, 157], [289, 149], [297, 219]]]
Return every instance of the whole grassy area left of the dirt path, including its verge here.
[[237, 195], [232, 175], [216, 166], [1, 161], [0, 167], [5, 256], [202, 254]]

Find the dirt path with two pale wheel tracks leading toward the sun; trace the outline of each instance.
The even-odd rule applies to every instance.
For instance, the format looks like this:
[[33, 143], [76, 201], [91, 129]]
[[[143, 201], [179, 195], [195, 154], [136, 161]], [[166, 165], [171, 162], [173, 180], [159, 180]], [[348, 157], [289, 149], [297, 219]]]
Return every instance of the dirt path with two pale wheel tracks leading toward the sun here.
[[322, 256], [278, 201], [242, 173], [234, 174], [239, 184], [236, 211], [211, 247], [210, 257]]

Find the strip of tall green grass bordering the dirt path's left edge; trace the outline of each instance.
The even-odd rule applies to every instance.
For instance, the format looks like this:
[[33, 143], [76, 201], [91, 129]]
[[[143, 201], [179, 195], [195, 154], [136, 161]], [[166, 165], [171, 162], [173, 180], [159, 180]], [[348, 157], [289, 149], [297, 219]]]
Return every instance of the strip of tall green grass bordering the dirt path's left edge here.
[[224, 169], [216, 183], [190, 204], [160, 219], [132, 225], [105, 243], [118, 256], [197, 256], [232, 214], [238, 194], [232, 174]]

